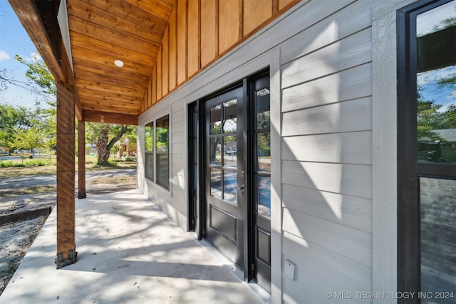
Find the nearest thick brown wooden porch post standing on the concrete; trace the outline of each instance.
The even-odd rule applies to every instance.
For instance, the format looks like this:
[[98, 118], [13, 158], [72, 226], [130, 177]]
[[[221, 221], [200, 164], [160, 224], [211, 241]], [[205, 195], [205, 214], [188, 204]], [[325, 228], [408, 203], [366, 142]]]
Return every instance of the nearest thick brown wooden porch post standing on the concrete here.
[[76, 262], [74, 87], [57, 83], [57, 268]]

